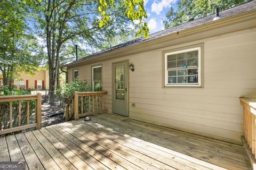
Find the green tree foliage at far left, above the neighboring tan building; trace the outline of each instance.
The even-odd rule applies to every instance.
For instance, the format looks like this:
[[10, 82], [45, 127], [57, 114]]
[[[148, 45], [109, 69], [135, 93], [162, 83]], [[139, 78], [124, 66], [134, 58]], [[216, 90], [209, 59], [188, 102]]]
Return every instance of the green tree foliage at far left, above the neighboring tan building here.
[[14, 73], [33, 72], [41, 63], [42, 49], [27, 23], [31, 4], [28, 0], [0, 1], [0, 71], [9, 88]]

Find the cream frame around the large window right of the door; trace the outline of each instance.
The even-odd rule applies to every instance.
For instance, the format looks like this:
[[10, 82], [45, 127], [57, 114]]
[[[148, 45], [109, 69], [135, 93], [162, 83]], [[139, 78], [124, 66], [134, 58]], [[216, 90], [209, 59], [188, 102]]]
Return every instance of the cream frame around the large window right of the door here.
[[[186, 53], [191, 52], [193, 50], [198, 50], [198, 83], [197, 84], [189, 84], [189, 83], [175, 83], [175, 84], [168, 84], [167, 77], [167, 55], [172, 54], [180, 54], [180, 53]], [[186, 48], [180, 48], [180, 49], [174, 49], [169, 50], [167, 52], [163, 52], [163, 61], [164, 61], [164, 87], [202, 87], [202, 45], [199, 46], [190, 46]], [[177, 70], [177, 69], [174, 69]]]

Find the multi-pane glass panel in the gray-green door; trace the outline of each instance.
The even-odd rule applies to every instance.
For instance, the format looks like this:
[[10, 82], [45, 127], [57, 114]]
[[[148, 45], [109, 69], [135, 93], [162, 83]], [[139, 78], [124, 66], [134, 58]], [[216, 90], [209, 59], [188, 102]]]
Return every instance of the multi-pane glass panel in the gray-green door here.
[[124, 75], [124, 66], [116, 66], [115, 68], [115, 94], [116, 99], [124, 100], [125, 98], [125, 75]]

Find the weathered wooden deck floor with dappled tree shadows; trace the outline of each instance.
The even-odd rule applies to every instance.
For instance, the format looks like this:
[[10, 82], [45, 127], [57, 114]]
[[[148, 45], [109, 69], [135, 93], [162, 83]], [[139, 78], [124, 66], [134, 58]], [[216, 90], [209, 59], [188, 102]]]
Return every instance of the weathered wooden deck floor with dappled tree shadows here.
[[0, 138], [0, 151], [28, 169], [250, 169], [243, 146], [110, 114]]

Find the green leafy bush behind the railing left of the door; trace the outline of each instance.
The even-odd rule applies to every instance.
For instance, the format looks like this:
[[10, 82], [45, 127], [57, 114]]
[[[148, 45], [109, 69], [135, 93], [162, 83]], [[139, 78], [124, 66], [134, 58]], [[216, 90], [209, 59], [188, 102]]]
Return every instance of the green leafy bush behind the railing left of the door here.
[[63, 82], [60, 86], [58, 86], [55, 93], [62, 108], [65, 108], [65, 105], [68, 104], [75, 91], [92, 91], [91, 84], [89, 84], [87, 81], [78, 81], [77, 78], [75, 82]]

